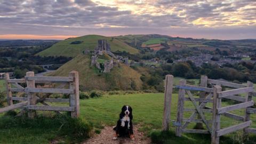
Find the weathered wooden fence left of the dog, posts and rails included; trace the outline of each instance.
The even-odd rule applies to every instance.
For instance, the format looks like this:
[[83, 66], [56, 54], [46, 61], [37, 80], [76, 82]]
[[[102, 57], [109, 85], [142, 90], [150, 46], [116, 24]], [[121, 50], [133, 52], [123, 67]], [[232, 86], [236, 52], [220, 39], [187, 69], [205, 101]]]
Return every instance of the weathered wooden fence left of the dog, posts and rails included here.
[[[23, 79], [10, 79], [9, 74], [5, 74], [6, 96], [8, 107], [1, 108], [0, 113], [5, 111], [26, 108], [28, 109], [28, 117], [34, 118], [36, 110], [49, 110], [49, 111], [70, 111], [71, 117], [79, 116], [79, 78], [77, 71], [71, 71], [68, 77], [54, 77], [54, 76], [34, 76], [33, 71], [26, 73]], [[26, 84], [23, 87], [20, 84]], [[36, 88], [36, 84], [42, 83], [62, 83], [68, 84], [68, 89], [46, 89]], [[15, 86], [15, 88], [12, 87]], [[26, 97], [12, 97], [12, 92], [24, 92]], [[36, 93], [60, 93], [69, 94], [68, 99], [51, 99], [51, 98], [38, 98]], [[22, 101], [13, 104], [13, 101]], [[69, 102], [69, 107], [63, 106], [50, 106], [46, 102]], [[37, 103], [42, 103], [44, 106], [37, 106]]]

